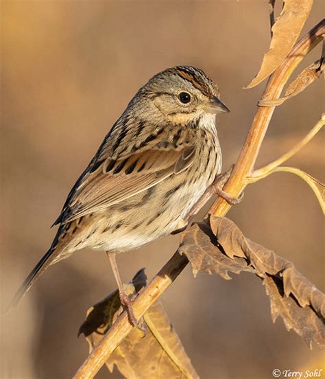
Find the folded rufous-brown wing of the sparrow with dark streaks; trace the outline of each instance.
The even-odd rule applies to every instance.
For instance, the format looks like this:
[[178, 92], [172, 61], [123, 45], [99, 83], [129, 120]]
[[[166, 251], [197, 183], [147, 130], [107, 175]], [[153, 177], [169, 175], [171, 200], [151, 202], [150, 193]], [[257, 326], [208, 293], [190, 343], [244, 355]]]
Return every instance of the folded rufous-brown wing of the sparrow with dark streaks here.
[[191, 165], [195, 148], [146, 150], [122, 159], [106, 159], [76, 188], [69, 204], [69, 222], [145, 191]]

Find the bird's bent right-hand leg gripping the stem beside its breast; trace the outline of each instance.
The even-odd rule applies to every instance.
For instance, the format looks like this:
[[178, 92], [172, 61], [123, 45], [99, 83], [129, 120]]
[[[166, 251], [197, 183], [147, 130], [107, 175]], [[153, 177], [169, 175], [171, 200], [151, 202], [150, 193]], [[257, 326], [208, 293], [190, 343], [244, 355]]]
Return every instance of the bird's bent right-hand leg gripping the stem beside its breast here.
[[230, 178], [230, 175], [232, 173], [233, 165], [232, 167], [227, 170], [226, 172], [219, 174], [215, 177], [215, 181], [206, 189], [204, 194], [197, 200], [197, 203], [193, 205], [192, 209], [189, 211], [189, 214], [187, 214], [185, 219], [181, 219], [178, 221], [178, 225], [176, 227], [176, 230], [172, 231], [171, 234], [177, 234], [180, 233], [180, 231], [184, 231], [188, 225], [191, 224], [191, 220], [193, 220], [194, 216], [202, 209], [202, 207], [206, 204], [206, 202], [211, 198], [213, 195], [217, 195], [230, 205], [237, 205], [241, 202], [243, 199], [243, 193], [239, 196], [239, 198], [234, 198], [224, 192], [223, 188], [224, 185], [227, 183], [228, 179]]

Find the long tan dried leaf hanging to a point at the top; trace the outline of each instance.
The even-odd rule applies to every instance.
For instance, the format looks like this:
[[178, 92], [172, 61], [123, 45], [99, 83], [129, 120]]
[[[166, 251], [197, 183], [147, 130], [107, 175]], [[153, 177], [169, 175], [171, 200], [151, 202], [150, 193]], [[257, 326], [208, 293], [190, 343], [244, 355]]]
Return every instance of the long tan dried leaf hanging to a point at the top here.
[[260, 71], [246, 89], [255, 87], [271, 75], [290, 53], [311, 12], [313, 0], [285, 0], [280, 17], [272, 27], [273, 37]]

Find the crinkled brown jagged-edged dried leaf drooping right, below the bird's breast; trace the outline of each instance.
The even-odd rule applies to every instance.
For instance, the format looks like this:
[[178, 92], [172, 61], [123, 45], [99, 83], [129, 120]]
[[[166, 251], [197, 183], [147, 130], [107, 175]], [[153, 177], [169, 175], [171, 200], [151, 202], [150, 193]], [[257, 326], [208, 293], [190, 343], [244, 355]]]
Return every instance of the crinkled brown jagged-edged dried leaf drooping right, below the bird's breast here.
[[249, 271], [261, 279], [271, 301], [272, 320], [281, 316], [308, 345], [325, 346], [325, 295], [291, 262], [243, 236], [228, 218], [210, 216], [186, 231], [180, 253], [192, 264], [193, 274]]

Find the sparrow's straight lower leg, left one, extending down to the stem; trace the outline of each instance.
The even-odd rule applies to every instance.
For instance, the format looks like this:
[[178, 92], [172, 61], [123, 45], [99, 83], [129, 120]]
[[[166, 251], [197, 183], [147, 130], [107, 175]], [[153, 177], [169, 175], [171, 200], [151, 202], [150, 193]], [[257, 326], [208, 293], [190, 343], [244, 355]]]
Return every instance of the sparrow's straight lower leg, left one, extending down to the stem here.
[[115, 251], [106, 251], [106, 254], [108, 255], [108, 259], [110, 260], [110, 266], [112, 266], [112, 271], [115, 277], [115, 280], [117, 282], [117, 287], [119, 288], [119, 299], [121, 300], [121, 305], [125, 310], [128, 312], [128, 318], [130, 323], [136, 327], [136, 329], [141, 330], [141, 332], [144, 333], [144, 336], [147, 334], [147, 325], [145, 324], [145, 319], [141, 318], [141, 324], [138, 323], [136, 318], [134, 317], [134, 312], [132, 308], [132, 300], [128, 295], [125, 293], [123, 288], [123, 283], [121, 281], [121, 277], [119, 275], [119, 268], [117, 268], [117, 261], [116, 261], [116, 252]]

